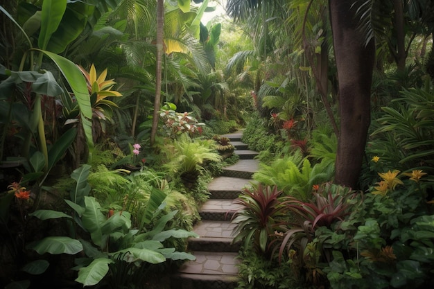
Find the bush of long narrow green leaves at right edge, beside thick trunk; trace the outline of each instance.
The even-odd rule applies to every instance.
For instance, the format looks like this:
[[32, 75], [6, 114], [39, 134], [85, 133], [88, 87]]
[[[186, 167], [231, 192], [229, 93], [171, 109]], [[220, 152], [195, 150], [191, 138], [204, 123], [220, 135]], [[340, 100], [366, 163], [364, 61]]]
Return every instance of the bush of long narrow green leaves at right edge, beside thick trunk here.
[[401, 91], [401, 97], [382, 107], [373, 123], [368, 153], [383, 168], [423, 169], [434, 173], [434, 94], [423, 89]]

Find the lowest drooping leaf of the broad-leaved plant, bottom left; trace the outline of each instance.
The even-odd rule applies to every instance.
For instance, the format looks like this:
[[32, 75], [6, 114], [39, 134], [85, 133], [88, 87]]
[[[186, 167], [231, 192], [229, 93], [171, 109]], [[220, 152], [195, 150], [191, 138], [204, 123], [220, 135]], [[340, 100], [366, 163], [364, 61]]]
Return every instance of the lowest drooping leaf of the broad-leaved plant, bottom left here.
[[107, 274], [108, 265], [113, 263], [111, 259], [98, 258], [92, 261], [87, 267], [78, 270], [77, 282], [82, 283], [83, 286], [93, 286], [99, 283]]

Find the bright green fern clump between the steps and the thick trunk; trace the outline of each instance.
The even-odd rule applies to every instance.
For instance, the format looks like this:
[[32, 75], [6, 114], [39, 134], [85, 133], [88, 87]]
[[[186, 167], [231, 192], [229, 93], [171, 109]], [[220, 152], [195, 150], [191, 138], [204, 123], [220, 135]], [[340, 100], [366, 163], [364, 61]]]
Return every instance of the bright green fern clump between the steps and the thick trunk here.
[[275, 185], [285, 195], [293, 195], [299, 200], [311, 198], [312, 186], [329, 182], [333, 175], [333, 166], [327, 161], [311, 166], [309, 159], [304, 159], [300, 151], [285, 156], [270, 164], [260, 164], [253, 179], [266, 185]]

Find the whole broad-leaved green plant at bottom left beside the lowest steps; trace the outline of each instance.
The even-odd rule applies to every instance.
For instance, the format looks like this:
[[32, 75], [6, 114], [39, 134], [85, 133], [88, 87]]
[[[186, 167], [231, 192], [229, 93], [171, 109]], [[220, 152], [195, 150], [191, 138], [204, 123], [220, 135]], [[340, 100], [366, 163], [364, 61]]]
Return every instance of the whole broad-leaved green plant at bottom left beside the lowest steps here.
[[[103, 214], [101, 204], [89, 196], [89, 185], [87, 176], [89, 165], [83, 165], [71, 174], [76, 180], [76, 187], [71, 191], [71, 200], [65, 200], [73, 209], [75, 218], [66, 213], [54, 210], [38, 210], [31, 213], [31, 216], [40, 220], [54, 218], [66, 218], [74, 220], [76, 225], [82, 227], [90, 236], [90, 240], [76, 238], [76, 236], [51, 236], [28, 245], [39, 254], [76, 254], [84, 252], [85, 257], [77, 259], [80, 265], [77, 282], [83, 286], [94, 286], [110, 274], [110, 266], [117, 261], [135, 264], [157, 264], [172, 260], [193, 260], [195, 257], [186, 252], [177, 252], [175, 248], [166, 248], [164, 240], [168, 238], [189, 238], [197, 237], [197, 234], [183, 229], [168, 229], [166, 224], [170, 222], [177, 211], [171, 211], [155, 221], [153, 229], [132, 228], [131, 214], [128, 211], [112, 211], [108, 216]], [[162, 193], [162, 192], [161, 192]], [[151, 193], [148, 203], [148, 211], [161, 211], [164, 207], [164, 198], [157, 193]], [[154, 214], [153, 214], [154, 213]], [[150, 222], [150, 215], [157, 216], [150, 212], [144, 218], [144, 222]], [[135, 267], [135, 270], [138, 270]], [[118, 288], [121, 288], [119, 286]]]

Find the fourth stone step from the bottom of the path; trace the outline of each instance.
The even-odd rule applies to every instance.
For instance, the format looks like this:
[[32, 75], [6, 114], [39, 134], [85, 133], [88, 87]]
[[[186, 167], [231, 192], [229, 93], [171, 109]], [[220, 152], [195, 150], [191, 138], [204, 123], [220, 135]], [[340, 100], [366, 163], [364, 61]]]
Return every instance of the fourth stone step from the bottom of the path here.
[[250, 182], [247, 177], [216, 177], [208, 184], [209, 198], [236, 199], [245, 186], [250, 186]]

